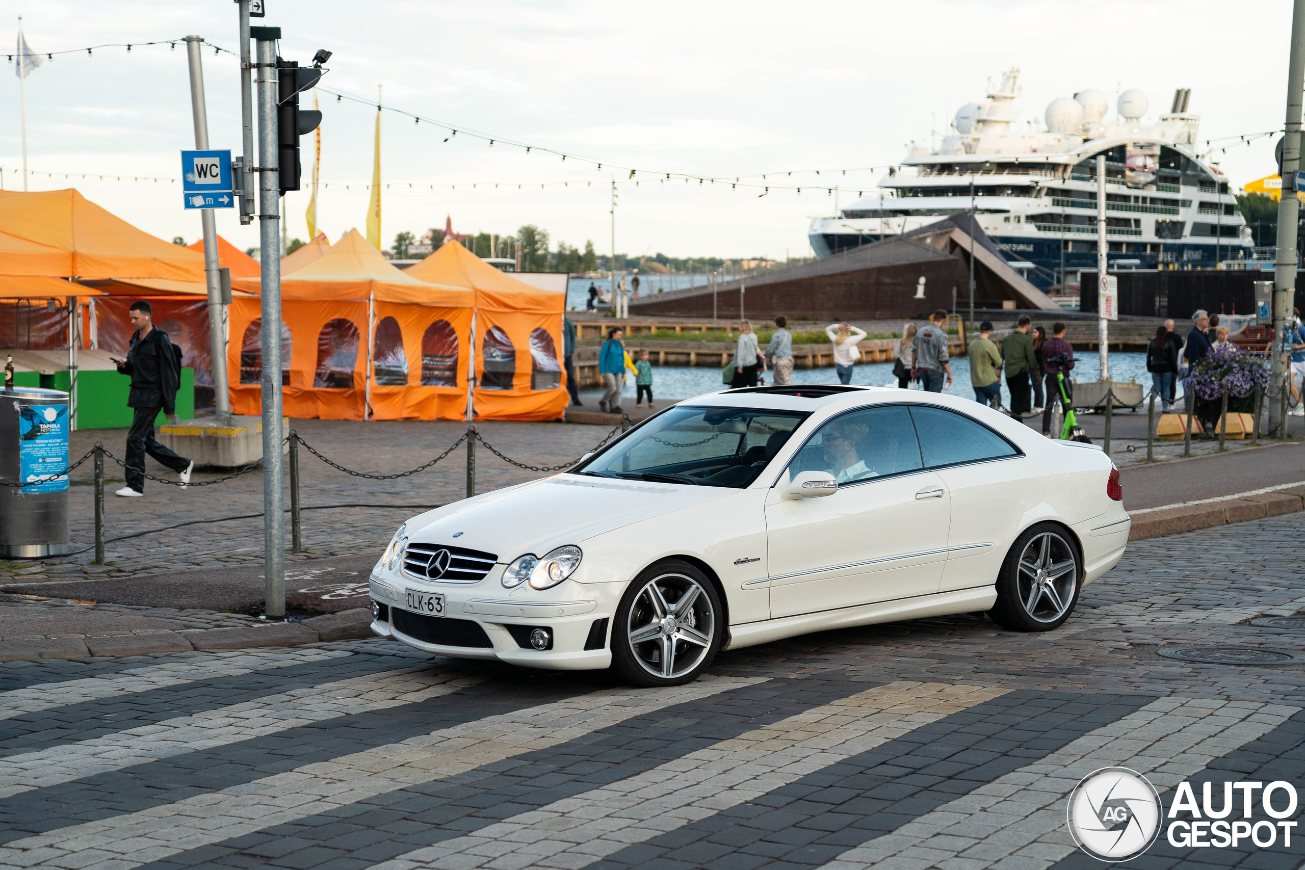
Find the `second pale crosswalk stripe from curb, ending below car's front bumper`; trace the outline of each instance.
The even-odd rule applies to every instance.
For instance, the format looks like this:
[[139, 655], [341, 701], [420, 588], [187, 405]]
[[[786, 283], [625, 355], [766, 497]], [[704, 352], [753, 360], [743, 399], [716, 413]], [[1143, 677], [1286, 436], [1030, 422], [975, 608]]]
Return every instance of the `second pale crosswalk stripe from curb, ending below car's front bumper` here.
[[257, 702], [177, 716], [138, 728], [0, 759], [0, 798], [134, 764], [226, 746], [311, 723], [411, 704], [482, 682], [429, 667], [338, 680]]

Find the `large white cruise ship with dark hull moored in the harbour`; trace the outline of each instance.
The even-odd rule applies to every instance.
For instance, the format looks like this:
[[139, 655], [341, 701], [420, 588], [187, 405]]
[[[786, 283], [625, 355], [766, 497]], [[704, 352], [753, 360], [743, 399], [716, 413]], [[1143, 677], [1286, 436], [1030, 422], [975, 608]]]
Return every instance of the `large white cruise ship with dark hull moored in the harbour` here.
[[[1073, 292], [1096, 269], [1096, 158], [1105, 155], [1111, 269], [1214, 267], [1249, 260], [1253, 240], [1216, 163], [1197, 154], [1198, 115], [1180, 89], [1169, 112], [1146, 123], [1141, 90], [1109, 99], [1084, 90], [1019, 123], [1019, 70], [988, 82], [988, 99], [962, 106], [937, 150], [912, 142], [881, 193], [814, 218], [817, 257], [908, 233], [970, 209], [1011, 266], [1040, 290]], [[1039, 129], [1045, 128], [1045, 129]], [[1066, 290], [1069, 288], [1069, 290]]]

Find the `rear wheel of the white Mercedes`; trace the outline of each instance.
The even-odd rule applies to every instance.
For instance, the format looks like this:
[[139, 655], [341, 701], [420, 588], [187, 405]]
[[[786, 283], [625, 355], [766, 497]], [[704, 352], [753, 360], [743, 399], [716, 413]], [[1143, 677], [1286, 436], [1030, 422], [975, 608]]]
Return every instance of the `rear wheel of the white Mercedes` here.
[[1037, 523], [1006, 554], [988, 616], [1011, 631], [1051, 631], [1074, 612], [1082, 580], [1082, 558], [1069, 532]]

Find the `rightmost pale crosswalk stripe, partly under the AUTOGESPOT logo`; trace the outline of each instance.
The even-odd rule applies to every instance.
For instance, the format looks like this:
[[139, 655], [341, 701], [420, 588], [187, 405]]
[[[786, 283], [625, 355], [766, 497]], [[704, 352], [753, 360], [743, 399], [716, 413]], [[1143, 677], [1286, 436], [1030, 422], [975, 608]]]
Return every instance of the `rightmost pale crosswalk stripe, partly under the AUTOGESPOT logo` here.
[[[975, 870], [1002, 861], [1045, 867], [1078, 848], [1065, 828], [1065, 801], [1092, 771], [1129, 767], [1164, 792], [1298, 712], [1284, 704], [1163, 698], [843, 852], [821, 870], [932, 866], [953, 856]], [[946, 854], [930, 843], [946, 843]]]

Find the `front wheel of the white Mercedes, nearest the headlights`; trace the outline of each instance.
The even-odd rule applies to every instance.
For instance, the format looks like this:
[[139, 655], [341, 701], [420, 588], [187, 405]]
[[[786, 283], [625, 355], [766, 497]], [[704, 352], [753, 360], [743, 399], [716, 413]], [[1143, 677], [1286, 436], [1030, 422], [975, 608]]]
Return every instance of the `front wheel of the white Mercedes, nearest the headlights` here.
[[616, 608], [612, 668], [636, 686], [680, 686], [707, 669], [724, 634], [715, 586], [668, 560], [642, 571]]

